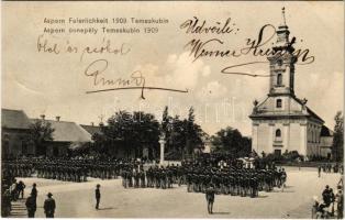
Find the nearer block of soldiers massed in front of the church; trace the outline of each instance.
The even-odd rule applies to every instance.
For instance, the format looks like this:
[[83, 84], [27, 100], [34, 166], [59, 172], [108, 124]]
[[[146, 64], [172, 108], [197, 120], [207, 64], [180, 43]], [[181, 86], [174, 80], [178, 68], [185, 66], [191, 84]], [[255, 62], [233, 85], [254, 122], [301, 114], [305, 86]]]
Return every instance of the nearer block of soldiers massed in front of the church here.
[[[271, 191], [274, 187], [282, 187], [287, 180], [283, 168], [254, 169], [243, 167], [243, 163], [234, 160], [227, 163], [215, 163], [216, 166], [203, 163], [182, 163], [166, 167], [142, 167], [127, 165], [121, 172], [124, 188], [171, 188], [172, 184], [187, 185], [188, 193], [205, 193], [212, 185], [215, 194], [257, 197], [258, 191]], [[221, 166], [219, 166], [221, 164]]]

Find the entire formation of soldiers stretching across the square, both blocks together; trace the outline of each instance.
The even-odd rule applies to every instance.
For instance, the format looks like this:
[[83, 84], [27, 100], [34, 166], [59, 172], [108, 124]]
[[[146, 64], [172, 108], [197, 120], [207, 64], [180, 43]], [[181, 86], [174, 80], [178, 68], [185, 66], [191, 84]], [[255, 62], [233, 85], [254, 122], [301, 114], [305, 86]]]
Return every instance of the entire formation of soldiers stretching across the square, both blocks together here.
[[[36, 175], [64, 182], [87, 182], [88, 177], [111, 179], [121, 176], [124, 188], [172, 188], [186, 185], [188, 193], [205, 193], [212, 185], [215, 194], [257, 197], [258, 191], [281, 187], [287, 178], [283, 169], [247, 168], [235, 158], [199, 157], [181, 165], [166, 167], [136, 160], [63, 160], [34, 158], [3, 162], [4, 174], [16, 177]], [[4, 175], [5, 176], [5, 175]]]

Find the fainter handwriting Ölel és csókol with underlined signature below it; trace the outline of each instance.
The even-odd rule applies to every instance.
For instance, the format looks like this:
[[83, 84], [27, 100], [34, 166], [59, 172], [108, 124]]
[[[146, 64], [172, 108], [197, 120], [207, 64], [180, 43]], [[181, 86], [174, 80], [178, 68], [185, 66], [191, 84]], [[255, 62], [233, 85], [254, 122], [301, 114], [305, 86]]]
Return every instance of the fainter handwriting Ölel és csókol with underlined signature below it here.
[[[79, 56], [79, 63], [84, 62], [85, 57], [88, 55], [115, 55], [118, 57], [125, 56], [132, 51], [131, 46], [125, 43], [121, 43], [120, 46], [114, 46], [111, 40], [103, 38], [99, 45], [91, 46], [76, 46], [71, 45], [69, 41], [56, 42], [45, 35], [38, 35], [37, 37], [37, 52], [52, 54], [52, 55], [63, 55], [63, 54], [77, 54]], [[86, 94], [96, 94], [103, 91], [115, 91], [115, 90], [141, 90], [141, 99], [145, 99], [145, 90], [165, 90], [174, 92], [188, 92], [187, 89], [172, 89], [165, 87], [152, 87], [146, 86], [146, 79], [141, 70], [135, 70], [129, 75], [129, 77], [118, 77], [118, 73], [113, 72], [105, 75], [110, 66], [109, 61], [105, 58], [97, 58], [90, 62], [84, 75], [91, 79], [92, 87], [98, 89], [86, 91]], [[122, 76], [122, 75], [121, 75]], [[111, 88], [109, 88], [111, 87]]]

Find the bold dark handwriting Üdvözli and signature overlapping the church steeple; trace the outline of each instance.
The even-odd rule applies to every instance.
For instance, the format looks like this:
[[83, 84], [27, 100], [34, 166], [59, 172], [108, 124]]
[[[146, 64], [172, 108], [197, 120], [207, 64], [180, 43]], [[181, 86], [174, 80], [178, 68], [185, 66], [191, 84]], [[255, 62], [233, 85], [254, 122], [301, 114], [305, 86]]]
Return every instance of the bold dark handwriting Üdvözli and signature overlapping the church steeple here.
[[[233, 23], [232, 26], [235, 24]], [[225, 22], [215, 22], [214, 25], [207, 25], [207, 21], [200, 21], [197, 16], [185, 21], [180, 29], [185, 30], [186, 34], [213, 34], [216, 37], [211, 37], [209, 40], [192, 38], [186, 45], [185, 48], [190, 51], [190, 56], [193, 57], [193, 62], [201, 57], [209, 58], [238, 58], [244, 56], [254, 56], [254, 57], [269, 57], [269, 56], [283, 56], [286, 53], [292, 52], [292, 55], [297, 59], [297, 64], [305, 65], [314, 62], [315, 57], [310, 55], [309, 48], [298, 48], [294, 50], [292, 45], [296, 43], [296, 37], [292, 37], [288, 42], [289, 48], [292, 51], [285, 50], [275, 50], [270, 46], [272, 45], [272, 40], [276, 36], [276, 28], [271, 24], [265, 24], [260, 28], [256, 38], [246, 38], [245, 45], [240, 47], [230, 48], [225, 45], [225, 41], [221, 37], [225, 34], [235, 34], [240, 29], [231, 26], [231, 19], [226, 19]], [[227, 36], [227, 35], [226, 35]], [[221, 47], [221, 50], [214, 50]], [[269, 75], [253, 75], [248, 73], [236, 72], [236, 67], [263, 64], [268, 63], [263, 59], [238, 63], [235, 65], [230, 65], [224, 67], [222, 74], [235, 74], [235, 75], [245, 75], [245, 76], [261, 76], [267, 77]]]

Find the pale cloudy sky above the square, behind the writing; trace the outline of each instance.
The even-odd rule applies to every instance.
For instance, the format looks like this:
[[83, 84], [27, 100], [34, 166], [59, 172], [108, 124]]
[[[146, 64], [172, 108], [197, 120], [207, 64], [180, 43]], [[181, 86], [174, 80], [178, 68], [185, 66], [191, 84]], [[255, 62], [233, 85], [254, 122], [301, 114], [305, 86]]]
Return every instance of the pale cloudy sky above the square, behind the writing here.
[[[267, 97], [269, 79], [224, 75], [221, 70], [231, 65], [265, 62], [266, 57], [248, 54], [193, 61], [190, 47], [185, 45], [193, 38], [219, 38], [223, 45], [211, 43], [214, 46], [208, 48], [240, 50], [246, 45], [247, 38], [256, 40], [265, 24], [276, 28], [281, 24], [282, 7], [286, 8], [290, 36], [297, 38], [294, 47], [308, 48], [314, 56], [311, 64], [296, 65], [296, 95], [307, 98], [308, 106], [333, 129], [333, 118], [344, 106], [344, 3], [334, 1], [2, 2], [2, 108], [22, 109], [30, 118], [45, 114], [54, 119], [59, 116], [63, 121], [90, 124], [105, 121], [118, 110], [142, 110], [159, 119], [165, 106], [169, 107], [171, 116], [181, 118], [193, 107], [197, 122], [209, 134], [232, 127], [244, 135], [251, 135], [248, 116], [253, 101], [263, 101]], [[45, 18], [65, 19], [66, 23], [47, 24], [44, 23]], [[136, 28], [141, 33], [104, 34], [101, 33], [102, 24], [68, 24], [69, 18], [108, 18], [110, 22], [112, 18], [125, 18], [125, 24], [110, 23], [107, 28]], [[160, 18], [167, 19], [168, 23], [136, 24], [131, 22], [131, 18]], [[226, 34], [186, 33], [181, 24], [193, 18], [205, 21], [207, 26], [216, 22], [222, 26], [230, 18], [229, 26], [234, 31]], [[64, 28], [66, 31], [70, 28], [98, 28], [98, 33], [44, 34], [44, 28]], [[144, 28], [157, 28], [158, 32], [143, 33]], [[267, 30], [264, 37], [270, 33]], [[45, 40], [47, 46], [57, 44], [59, 53], [43, 52], [43, 47], [40, 51], [37, 44], [44, 45]], [[108, 41], [113, 48], [122, 47], [123, 54], [82, 55], [87, 47], [100, 47]], [[77, 53], [67, 53], [65, 48], [68, 45], [77, 47]], [[94, 86], [94, 78], [86, 75], [87, 69], [102, 69], [104, 61], [108, 67], [101, 77], [105, 79], [126, 80], [131, 76], [138, 77], [133, 73], [141, 73], [145, 86], [188, 92], [144, 90], [145, 99], [141, 98], [141, 90], [87, 94], [113, 88], [100, 84]], [[265, 75], [269, 73], [269, 65], [247, 65], [236, 70]]]

